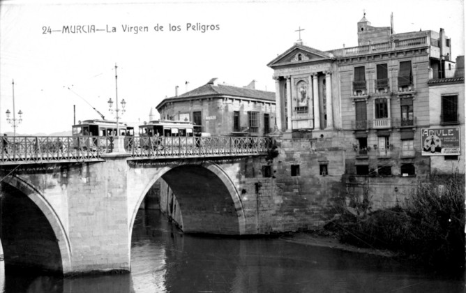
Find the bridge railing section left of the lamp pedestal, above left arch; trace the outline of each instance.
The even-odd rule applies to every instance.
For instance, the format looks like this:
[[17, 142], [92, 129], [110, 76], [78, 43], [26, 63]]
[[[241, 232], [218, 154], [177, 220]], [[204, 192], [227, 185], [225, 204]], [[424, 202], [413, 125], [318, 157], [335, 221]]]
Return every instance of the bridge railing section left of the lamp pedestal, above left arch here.
[[2, 137], [1, 163], [51, 163], [97, 160], [113, 149], [112, 137], [15, 136]]

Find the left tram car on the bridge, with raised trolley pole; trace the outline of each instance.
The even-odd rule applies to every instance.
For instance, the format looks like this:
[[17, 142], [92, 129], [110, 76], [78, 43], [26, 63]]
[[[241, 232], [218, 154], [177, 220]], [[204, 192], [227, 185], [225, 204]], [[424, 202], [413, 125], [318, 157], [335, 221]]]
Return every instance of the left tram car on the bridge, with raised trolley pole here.
[[[106, 144], [99, 138], [117, 136], [117, 121], [84, 120], [72, 126], [73, 147], [75, 149], [96, 151]], [[119, 122], [120, 136], [134, 136], [134, 127]], [[100, 142], [102, 141], [102, 142]]]

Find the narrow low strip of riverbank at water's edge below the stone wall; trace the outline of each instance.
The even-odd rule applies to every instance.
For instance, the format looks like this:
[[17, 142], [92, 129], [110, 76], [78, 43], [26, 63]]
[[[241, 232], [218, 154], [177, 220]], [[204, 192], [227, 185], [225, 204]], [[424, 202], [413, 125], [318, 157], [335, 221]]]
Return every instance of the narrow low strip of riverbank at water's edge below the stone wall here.
[[380, 250], [376, 248], [361, 248], [347, 243], [340, 243], [338, 236], [324, 230], [308, 232], [294, 232], [280, 236], [280, 239], [288, 242], [299, 243], [308, 246], [321, 246], [333, 249], [346, 250], [353, 253], [366, 253], [382, 257], [398, 257], [398, 253], [391, 250]]

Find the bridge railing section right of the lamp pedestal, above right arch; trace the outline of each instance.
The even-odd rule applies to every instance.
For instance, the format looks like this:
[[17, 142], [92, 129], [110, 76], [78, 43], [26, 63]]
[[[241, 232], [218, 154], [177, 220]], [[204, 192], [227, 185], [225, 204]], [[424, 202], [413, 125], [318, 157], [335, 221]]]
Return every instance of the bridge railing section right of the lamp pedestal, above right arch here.
[[238, 156], [266, 153], [269, 137], [126, 137], [125, 149], [136, 158]]

